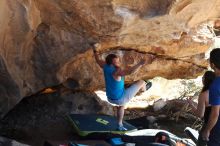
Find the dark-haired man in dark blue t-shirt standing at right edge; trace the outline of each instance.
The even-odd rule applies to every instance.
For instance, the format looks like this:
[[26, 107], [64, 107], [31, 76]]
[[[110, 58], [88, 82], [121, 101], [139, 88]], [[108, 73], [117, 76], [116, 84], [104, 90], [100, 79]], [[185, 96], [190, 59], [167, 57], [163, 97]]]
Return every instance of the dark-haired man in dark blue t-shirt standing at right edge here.
[[202, 133], [208, 146], [220, 146], [220, 49], [210, 52], [210, 66], [214, 70], [216, 78], [209, 87], [209, 104], [211, 113], [205, 129]]

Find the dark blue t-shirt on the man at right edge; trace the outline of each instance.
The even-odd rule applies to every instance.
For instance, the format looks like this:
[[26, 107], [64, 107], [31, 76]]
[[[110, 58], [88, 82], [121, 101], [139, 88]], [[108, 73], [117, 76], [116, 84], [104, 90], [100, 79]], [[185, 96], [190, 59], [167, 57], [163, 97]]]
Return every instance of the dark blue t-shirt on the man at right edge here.
[[[209, 104], [211, 106], [220, 105], [220, 77], [216, 77], [209, 87]], [[218, 117], [215, 128], [220, 130], [220, 116]]]

